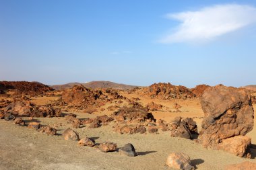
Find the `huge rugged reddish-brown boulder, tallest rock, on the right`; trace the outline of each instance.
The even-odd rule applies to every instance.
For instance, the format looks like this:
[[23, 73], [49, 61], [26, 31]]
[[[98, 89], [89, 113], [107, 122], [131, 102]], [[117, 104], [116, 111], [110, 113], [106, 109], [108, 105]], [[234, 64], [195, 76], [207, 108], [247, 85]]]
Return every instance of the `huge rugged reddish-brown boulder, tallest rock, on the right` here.
[[[232, 148], [230, 150], [233, 150], [243, 143], [245, 153], [240, 153], [240, 151], [231, 153], [247, 157], [248, 139], [239, 137], [240, 142], [226, 139], [245, 136], [247, 132], [253, 130], [253, 107], [249, 91], [223, 85], [209, 87], [201, 97], [201, 107], [205, 114], [199, 135], [201, 144], [215, 149], [223, 149], [223, 146], [228, 146]], [[226, 145], [226, 143], [229, 144]], [[230, 144], [234, 144], [234, 146]], [[224, 150], [227, 151], [227, 149]]]

